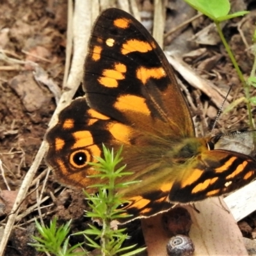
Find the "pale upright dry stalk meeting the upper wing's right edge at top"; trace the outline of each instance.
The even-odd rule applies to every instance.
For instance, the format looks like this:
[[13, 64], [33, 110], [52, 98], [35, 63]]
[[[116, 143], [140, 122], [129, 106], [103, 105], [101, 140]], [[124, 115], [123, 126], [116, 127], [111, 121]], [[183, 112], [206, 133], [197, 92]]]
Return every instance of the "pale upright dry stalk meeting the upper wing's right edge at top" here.
[[154, 1], [154, 24], [153, 24], [153, 37], [159, 44], [161, 49], [164, 46], [164, 24], [165, 24], [165, 8], [162, 0]]

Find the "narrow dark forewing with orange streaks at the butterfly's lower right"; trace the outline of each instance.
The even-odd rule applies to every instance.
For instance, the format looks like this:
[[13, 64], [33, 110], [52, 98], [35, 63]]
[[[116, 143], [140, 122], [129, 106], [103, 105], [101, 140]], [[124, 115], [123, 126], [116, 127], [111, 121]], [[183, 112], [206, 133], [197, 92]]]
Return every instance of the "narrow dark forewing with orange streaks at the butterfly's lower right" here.
[[256, 177], [253, 157], [227, 150], [205, 150], [190, 163], [180, 182], [174, 182], [168, 199], [188, 204], [212, 196], [226, 195]]

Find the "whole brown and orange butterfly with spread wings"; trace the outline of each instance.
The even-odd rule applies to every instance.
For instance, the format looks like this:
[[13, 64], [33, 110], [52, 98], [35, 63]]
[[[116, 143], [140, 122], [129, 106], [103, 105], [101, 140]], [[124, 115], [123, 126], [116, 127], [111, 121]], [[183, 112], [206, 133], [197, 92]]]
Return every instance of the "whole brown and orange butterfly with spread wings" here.
[[[57, 179], [85, 188], [88, 162], [124, 145], [123, 163], [141, 180], [123, 189], [135, 218], [241, 188], [256, 177], [256, 161], [214, 150], [218, 138], [196, 138], [188, 105], [163, 51], [138, 20], [115, 8], [101, 13], [90, 38], [80, 97], [49, 129], [47, 163]], [[120, 181], [120, 180], [119, 180]], [[170, 204], [172, 203], [172, 204]]]

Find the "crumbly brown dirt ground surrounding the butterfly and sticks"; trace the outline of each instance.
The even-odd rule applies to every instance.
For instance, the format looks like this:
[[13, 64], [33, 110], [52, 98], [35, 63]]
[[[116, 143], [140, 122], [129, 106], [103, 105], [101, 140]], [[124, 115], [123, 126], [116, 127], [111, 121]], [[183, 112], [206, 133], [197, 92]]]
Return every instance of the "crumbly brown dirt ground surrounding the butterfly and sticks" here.
[[[150, 1], [140, 1], [140, 3], [143, 10], [152, 10], [153, 8]], [[170, 11], [172, 6], [168, 6], [168, 8]], [[251, 5], [251, 8], [255, 8], [255, 6]], [[241, 26], [249, 44], [253, 29], [255, 29], [255, 12], [252, 12], [248, 16], [248, 20], [245, 20]], [[48, 77], [61, 87], [65, 64], [66, 17], [67, 3], [62, 0], [24, 0], [20, 1], [18, 5], [15, 1], [8, 0], [4, 1], [0, 7], [0, 50], [3, 49], [8, 58], [15, 59], [15, 61], [4, 61], [0, 58], [0, 159], [3, 162], [6, 178], [6, 182], [0, 179], [0, 223], [2, 225], [6, 221], [6, 214], [10, 212], [22, 179], [44, 139], [47, 124], [56, 108], [54, 96], [44, 84], [35, 81], [33, 76], [35, 68], [33, 65], [29, 65], [28, 61], [38, 63], [47, 72]], [[242, 71], [248, 75], [252, 68], [253, 57], [248, 52], [244, 53], [244, 43], [237, 31], [239, 20], [241, 19], [228, 22], [224, 31], [237, 60], [239, 60]], [[166, 23], [166, 31], [171, 23]], [[194, 24], [193, 33], [202, 29], [205, 24], [209, 24], [209, 20], [201, 17]], [[172, 38], [167, 38], [166, 44], [170, 44], [172, 40]], [[201, 72], [202, 76], [211, 79], [223, 90], [227, 91], [227, 84], [234, 84], [232, 97], [235, 97], [234, 99], [241, 97], [243, 90], [223, 47], [220, 44], [204, 45], [204, 47], [207, 49], [204, 56], [198, 56], [195, 60], [188, 61], [189, 64], [194, 68], [204, 67], [206, 71]], [[212, 58], [216, 54], [219, 57]], [[27, 62], [24, 64], [20, 61]], [[191, 96], [195, 99], [195, 89], [188, 88]], [[218, 110], [216, 106], [204, 94], [197, 93], [199, 93], [199, 104], [202, 104], [204, 113], [207, 113], [207, 116], [216, 116]], [[198, 104], [195, 100], [194, 102]], [[198, 115], [198, 113], [193, 114]], [[210, 127], [213, 121], [214, 117], [207, 117]], [[232, 128], [230, 128], [231, 126]], [[221, 116], [217, 128], [219, 131], [227, 131], [227, 129], [234, 130], [237, 127], [239, 129], [248, 127], [246, 108], [243, 104], [231, 111], [228, 116]], [[45, 164], [42, 163], [38, 174], [45, 168]], [[6, 184], [12, 193], [8, 191]], [[73, 233], [86, 228], [88, 220], [83, 217], [86, 207], [83, 193], [74, 189], [65, 189], [64, 191], [61, 189], [54, 193], [56, 188], [59, 188], [59, 185], [51, 175], [44, 195], [49, 196], [49, 199], [44, 202], [44, 205], [52, 204], [52, 206], [47, 210], [42, 210], [42, 214], [51, 212], [44, 217], [45, 223], [49, 223], [52, 216], [56, 215], [60, 224], [70, 219], [73, 220], [71, 230]], [[22, 211], [35, 204], [35, 198], [35, 192], [31, 191], [22, 205]], [[6, 248], [6, 256], [36, 255], [35, 250], [28, 246], [28, 243], [31, 243], [30, 235], [35, 234], [35, 225], [29, 220], [35, 216], [38, 216], [36, 211], [17, 223]], [[255, 218], [253, 221], [246, 221], [246, 224], [241, 225], [241, 229], [247, 237], [252, 237], [252, 230], [255, 230]], [[143, 243], [138, 223], [135, 222], [128, 227], [133, 230], [132, 237], [136, 237], [134, 241], [138, 242], [138, 237], [140, 237], [140, 241]], [[80, 241], [82, 237], [77, 239]], [[71, 243], [77, 242], [74, 238], [70, 241]]]

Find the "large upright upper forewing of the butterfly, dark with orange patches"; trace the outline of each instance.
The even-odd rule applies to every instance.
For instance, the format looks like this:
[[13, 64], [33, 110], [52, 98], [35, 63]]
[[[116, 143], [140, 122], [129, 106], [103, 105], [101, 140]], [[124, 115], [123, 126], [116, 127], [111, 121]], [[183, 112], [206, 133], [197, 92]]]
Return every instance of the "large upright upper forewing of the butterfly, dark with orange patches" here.
[[194, 136], [172, 68], [138, 20], [115, 8], [102, 12], [89, 45], [84, 90], [93, 109], [143, 132]]

